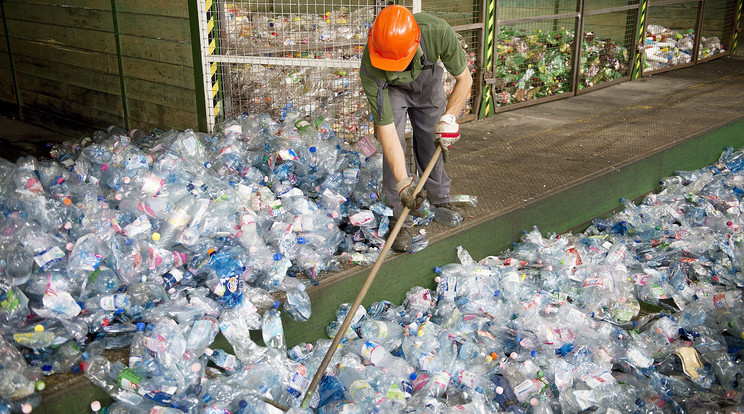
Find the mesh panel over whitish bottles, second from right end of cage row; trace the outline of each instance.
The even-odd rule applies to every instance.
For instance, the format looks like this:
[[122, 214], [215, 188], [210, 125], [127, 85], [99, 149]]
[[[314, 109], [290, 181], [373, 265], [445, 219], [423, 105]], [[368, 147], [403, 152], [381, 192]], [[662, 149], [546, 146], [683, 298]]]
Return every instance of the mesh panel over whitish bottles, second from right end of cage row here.
[[643, 73], [694, 63], [700, 1], [650, 1], [643, 39]]

